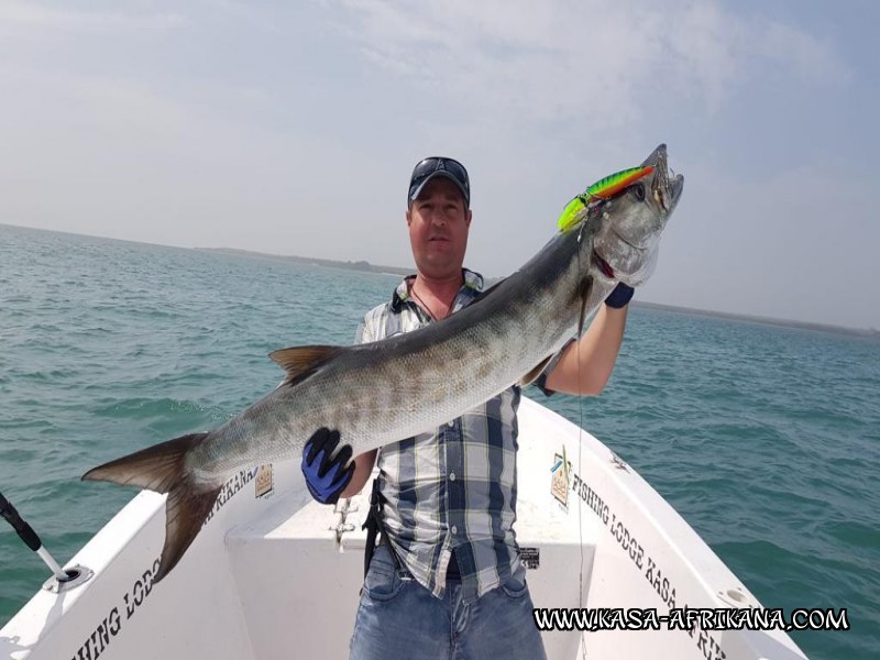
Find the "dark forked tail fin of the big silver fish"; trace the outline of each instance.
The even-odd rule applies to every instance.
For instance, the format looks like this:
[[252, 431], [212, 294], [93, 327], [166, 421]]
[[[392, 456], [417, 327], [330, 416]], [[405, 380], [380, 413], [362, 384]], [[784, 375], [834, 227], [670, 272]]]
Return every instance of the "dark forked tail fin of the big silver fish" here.
[[165, 503], [165, 546], [153, 582], [158, 582], [177, 565], [201, 529], [223, 484], [196, 482], [186, 468], [186, 455], [208, 433], [191, 433], [160, 442], [116, 461], [89, 470], [84, 480], [133, 485], [167, 493]]

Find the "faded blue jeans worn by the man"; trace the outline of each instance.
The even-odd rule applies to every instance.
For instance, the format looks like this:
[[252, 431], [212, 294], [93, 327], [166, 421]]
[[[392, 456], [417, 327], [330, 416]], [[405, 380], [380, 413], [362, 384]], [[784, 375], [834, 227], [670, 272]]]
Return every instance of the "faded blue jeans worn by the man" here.
[[461, 583], [449, 582], [443, 598], [436, 598], [380, 546], [361, 593], [349, 659], [546, 659], [531, 609], [525, 571], [468, 605]]

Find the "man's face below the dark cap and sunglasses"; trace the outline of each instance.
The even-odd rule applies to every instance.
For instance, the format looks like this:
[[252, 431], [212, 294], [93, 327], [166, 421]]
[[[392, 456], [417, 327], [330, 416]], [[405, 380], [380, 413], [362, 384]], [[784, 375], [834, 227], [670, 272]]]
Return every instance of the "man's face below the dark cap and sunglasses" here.
[[460, 275], [468, 248], [471, 210], [455, 184], [444, 177], [431, 180], [406, 213], [409, 242], [421, 275], [447, 278]]

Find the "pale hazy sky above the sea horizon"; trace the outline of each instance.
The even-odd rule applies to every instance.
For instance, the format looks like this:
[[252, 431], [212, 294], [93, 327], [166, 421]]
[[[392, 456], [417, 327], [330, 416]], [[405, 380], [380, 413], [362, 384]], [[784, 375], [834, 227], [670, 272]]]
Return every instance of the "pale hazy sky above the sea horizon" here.
[[[410, 266], [417, 161], [514, 272], [657, 144], [637, 299], [880, 329], [880, 4], [0, 0], [0, 222]], [[0, 267], [2, 265], [0, 264]]]

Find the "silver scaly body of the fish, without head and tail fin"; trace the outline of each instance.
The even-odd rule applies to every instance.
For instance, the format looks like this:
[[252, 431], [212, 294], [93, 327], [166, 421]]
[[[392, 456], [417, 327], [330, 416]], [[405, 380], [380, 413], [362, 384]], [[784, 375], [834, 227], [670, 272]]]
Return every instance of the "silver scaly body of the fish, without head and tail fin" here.
[[243, 464], [301, 455], [321, 426], [339, 430], [358, 455], [492, 398], [571, 337], [590, 283], [590, 246], [587, 234], [580, 242], [576, 234], [560, 234], [484, 298], [441, 322], [380, 342], [328, 348], [330, 359], [312, 373], [294, 374], [202, 442], [193, 469], [221, 483]]

